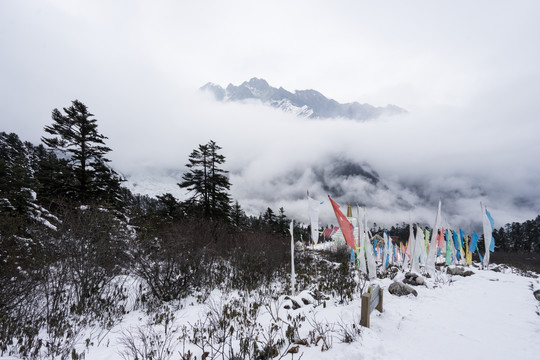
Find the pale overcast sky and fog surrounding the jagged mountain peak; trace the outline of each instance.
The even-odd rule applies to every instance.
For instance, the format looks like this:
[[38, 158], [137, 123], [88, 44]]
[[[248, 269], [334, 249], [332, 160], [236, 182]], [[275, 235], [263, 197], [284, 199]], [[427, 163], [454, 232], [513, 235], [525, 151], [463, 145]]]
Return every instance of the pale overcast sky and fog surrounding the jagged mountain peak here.
[[[213, 139], [233, 195], [265, 208], [267, 179], [333, 152], [391, 183], [455, 187], [474, 203], [463, 214], [480, 199], [502, 226], [540, 213], [538, 14], [540, 2], [519, 0], [3, 0], [0, 130], [38, 143], [51, 110], [79, 99], [127, 174], [180, 171]], [[252, 77], [409, 114], [307, 121], [198, 92]], [[270, 190], [268, 205], [307, 206]]]

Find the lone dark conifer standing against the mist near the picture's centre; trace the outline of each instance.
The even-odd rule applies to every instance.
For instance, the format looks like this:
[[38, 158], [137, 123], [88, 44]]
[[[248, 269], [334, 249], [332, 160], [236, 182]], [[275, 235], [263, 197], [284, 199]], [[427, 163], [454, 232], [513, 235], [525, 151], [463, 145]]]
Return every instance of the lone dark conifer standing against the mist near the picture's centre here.
[[189, 169], [182, 176], [180, 188], [192, 193], [188, 199], [189, 207], [206, 218], [228, 219], [231, 211], [231, 198], [228, 191], [231, 184], [228, 171], [219, 166], [225, 163], [225, 156], [218, 153], [221, 147], [210, 140], [199, 145], [189, 155]]

